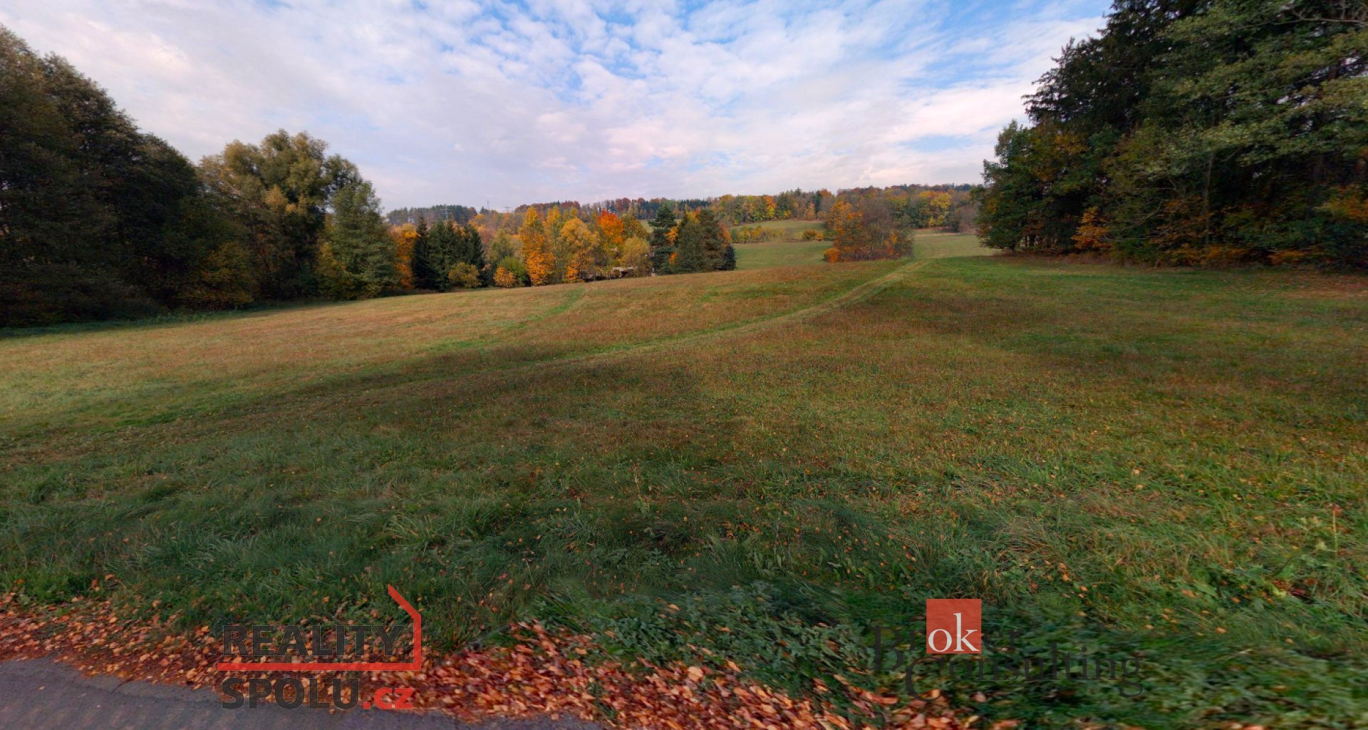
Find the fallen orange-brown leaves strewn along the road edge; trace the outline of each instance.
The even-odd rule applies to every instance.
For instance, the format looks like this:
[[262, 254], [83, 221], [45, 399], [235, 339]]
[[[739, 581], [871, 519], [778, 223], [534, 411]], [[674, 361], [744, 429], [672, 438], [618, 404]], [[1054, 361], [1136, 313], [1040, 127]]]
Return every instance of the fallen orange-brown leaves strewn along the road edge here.
[[[795, 698], [743, 679], [732, 662], [725, 668], [591, 663], [586, 657], [599, 653], [591, 637], [553, 634], [535, 623], [510, 629], [513, 646], [428, 657], [423, 671], [365, 672], [364, 683], [415, 688], [419, 708], [462, 720], [549, 715], [620, 729], [865, 727], [828, 701], [836, 692], [844, 693], [854, 709], [848, 715], [877, 718], [880, 727], [958, 730], [978, 720], [956, 716], [938, 693], [902, 703], [844, 682], [834, 690], [814, 681], [815, 698]], [[62, 611], [38, 612], [0, 599], [0, 660], [37, 656], [57, 657], [88, 674], [193, 688], [215, 686], [222, 677], [215, 663], [223, 659], [207, 626], [192, 634], [168, 634], [156, 622], [120, 620], [104, 603], [77, 600]]]

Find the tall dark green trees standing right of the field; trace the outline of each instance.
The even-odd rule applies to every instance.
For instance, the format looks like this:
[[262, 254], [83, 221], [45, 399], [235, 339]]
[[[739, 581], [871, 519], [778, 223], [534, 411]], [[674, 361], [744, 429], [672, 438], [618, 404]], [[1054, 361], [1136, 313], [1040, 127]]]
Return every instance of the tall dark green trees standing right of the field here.
[[1368, 4], [1118, 0], [985, 163], [989, 247], [1368, 266]]

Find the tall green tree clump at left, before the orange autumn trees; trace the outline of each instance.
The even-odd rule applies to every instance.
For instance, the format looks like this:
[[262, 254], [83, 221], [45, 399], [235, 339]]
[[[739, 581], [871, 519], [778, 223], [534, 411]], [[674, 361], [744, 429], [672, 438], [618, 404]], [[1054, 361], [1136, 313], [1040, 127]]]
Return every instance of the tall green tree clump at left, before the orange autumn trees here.
[[321, 140], [192, 164], [0, 27], [0, 325], [371, 296], [395, 253], [371, 184]]

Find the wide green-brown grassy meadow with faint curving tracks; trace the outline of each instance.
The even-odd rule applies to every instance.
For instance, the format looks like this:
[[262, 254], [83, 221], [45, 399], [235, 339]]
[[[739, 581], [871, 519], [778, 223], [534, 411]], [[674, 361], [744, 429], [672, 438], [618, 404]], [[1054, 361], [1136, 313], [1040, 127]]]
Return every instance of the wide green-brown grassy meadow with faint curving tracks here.
[[393, 582], [446, 646], [535, 616], [793, 688], [892, 686], [869, 626], [979, 597], [1146, 688], [917, 670], [990, 718], [1368, 723], [1364, 281], [917, 248], [0, 340], [0, 579], [189, 626]]

